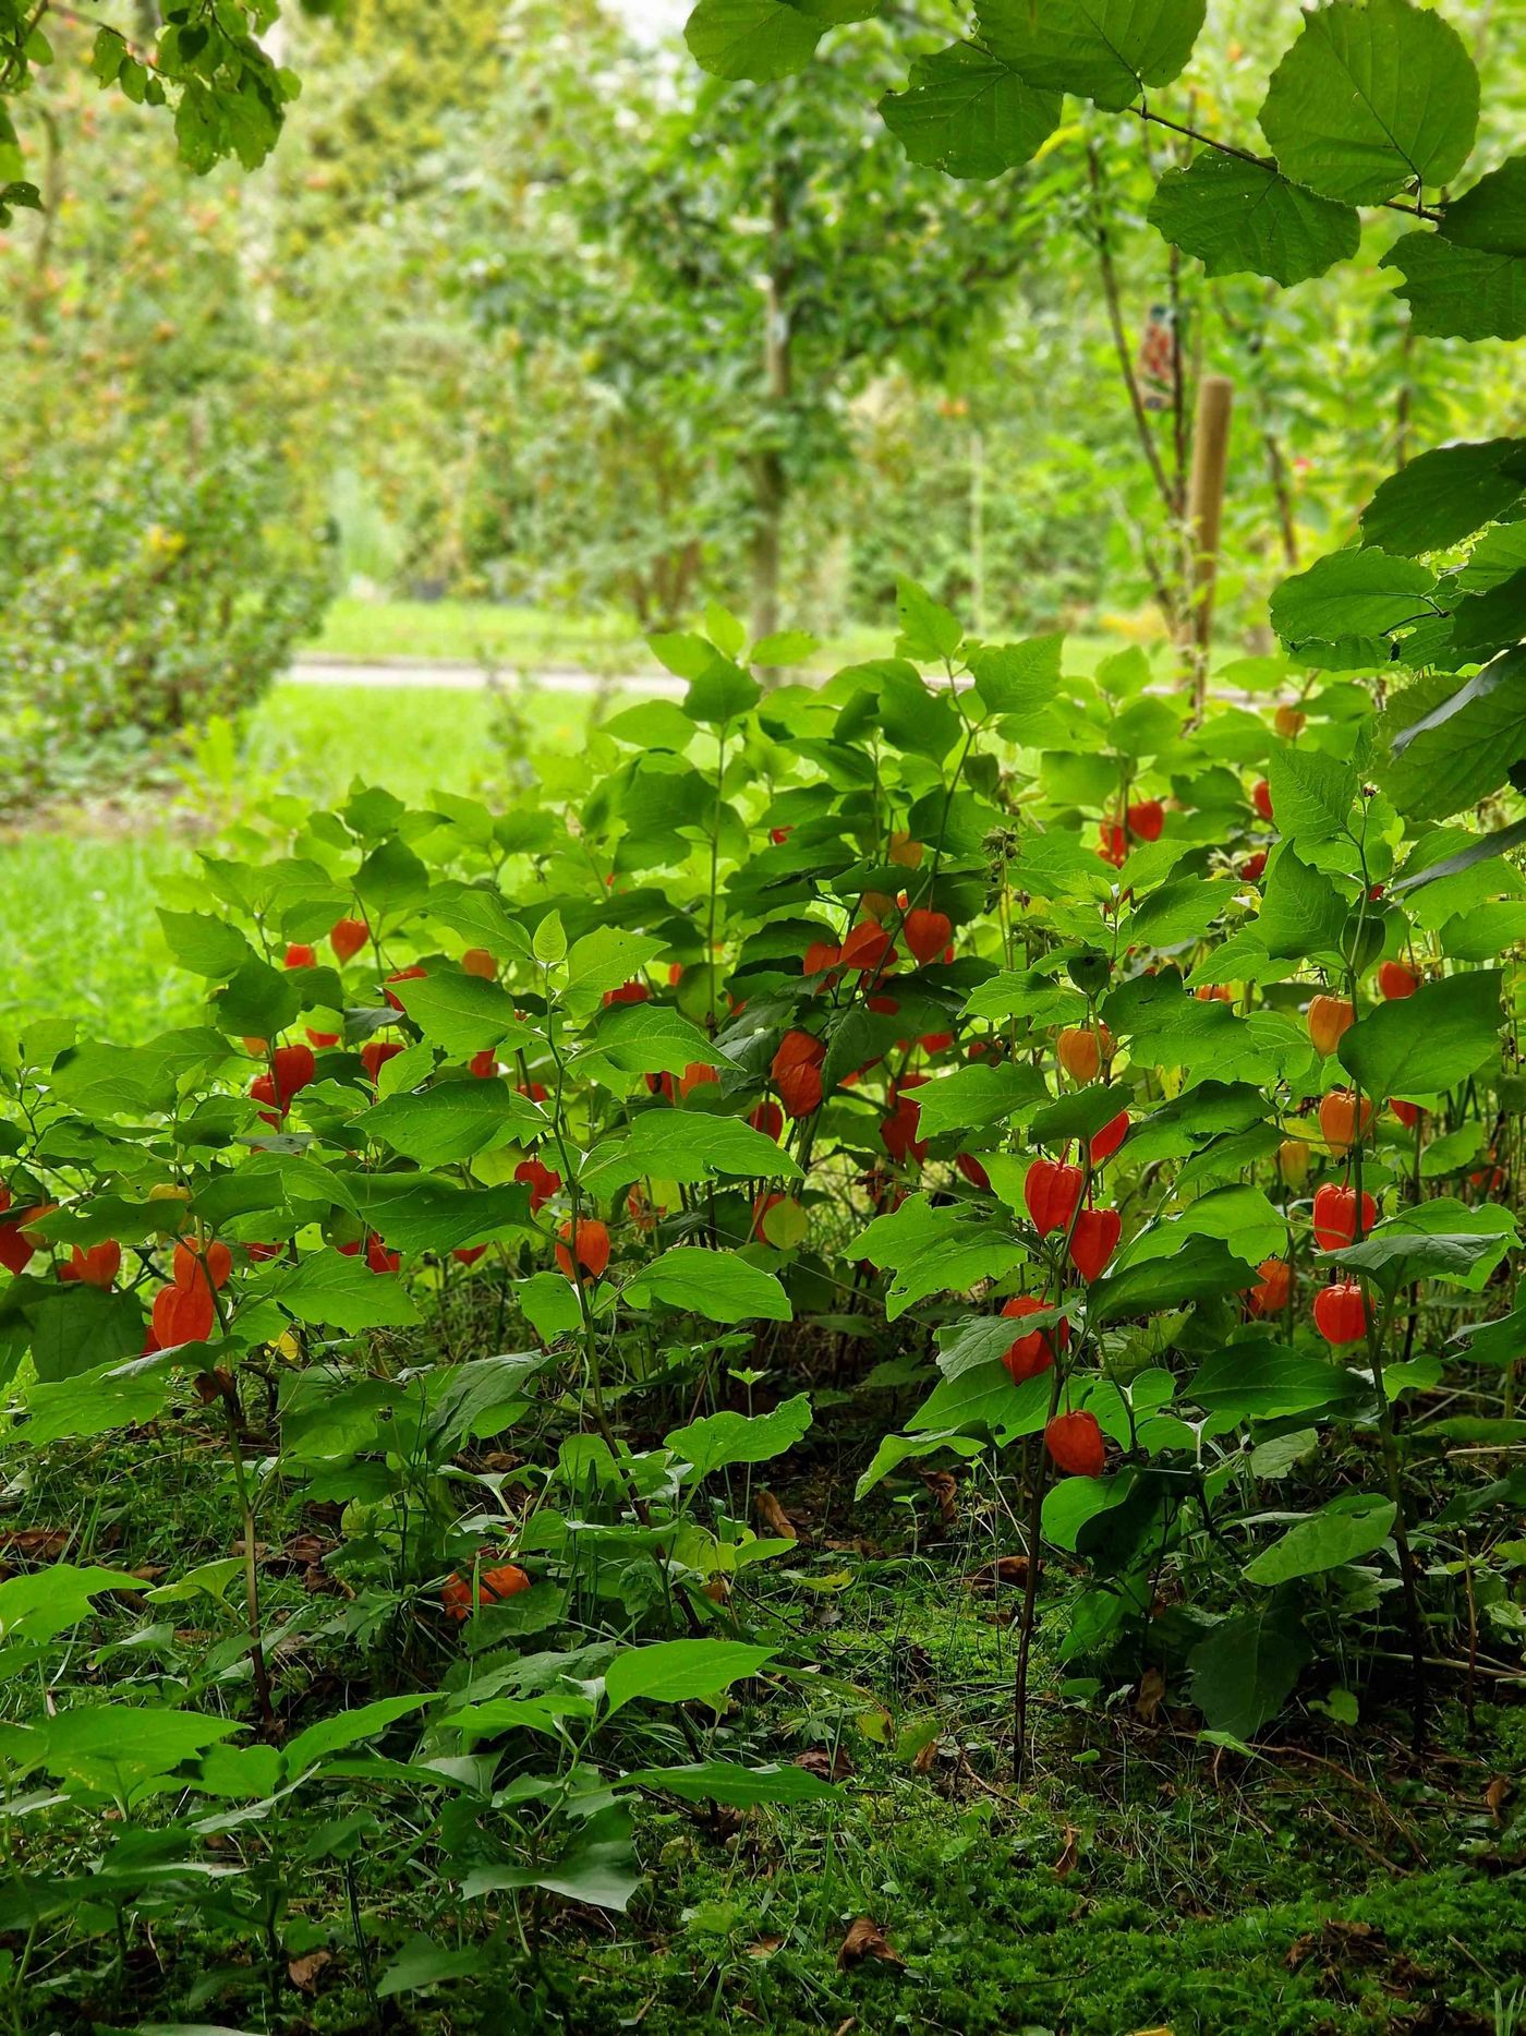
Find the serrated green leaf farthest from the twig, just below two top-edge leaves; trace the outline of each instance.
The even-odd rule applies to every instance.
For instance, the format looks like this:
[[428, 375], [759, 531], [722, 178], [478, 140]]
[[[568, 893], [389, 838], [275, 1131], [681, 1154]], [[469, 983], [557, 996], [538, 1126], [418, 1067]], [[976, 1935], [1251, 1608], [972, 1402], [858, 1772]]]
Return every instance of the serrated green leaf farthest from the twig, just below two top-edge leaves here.
[[905, 92], [879, 102], [914, 163], [950, 177], [999, 177], [1028, 163], [1060, 124], [1060, 94], [1038, 92], [1009, 63], [954, 43], [918, 57]]

